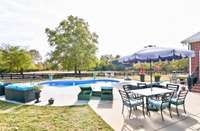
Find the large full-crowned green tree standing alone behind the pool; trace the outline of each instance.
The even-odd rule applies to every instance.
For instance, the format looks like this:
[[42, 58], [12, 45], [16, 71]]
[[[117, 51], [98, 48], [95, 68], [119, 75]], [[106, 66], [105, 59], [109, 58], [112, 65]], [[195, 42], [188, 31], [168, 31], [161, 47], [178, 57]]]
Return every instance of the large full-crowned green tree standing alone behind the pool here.
[[88, 70], [95, 66], [97, 38], [83, 19], [69, 16], [54, 30], [45, 29], [48, 42], [54, 50], [50, 61], [62, 69]]

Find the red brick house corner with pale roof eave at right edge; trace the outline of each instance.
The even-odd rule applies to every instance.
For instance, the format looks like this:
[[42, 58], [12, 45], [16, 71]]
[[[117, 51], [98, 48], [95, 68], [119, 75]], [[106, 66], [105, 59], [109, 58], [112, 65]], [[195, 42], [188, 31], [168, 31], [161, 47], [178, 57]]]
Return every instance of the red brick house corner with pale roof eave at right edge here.
[[[200, 32], [186, 38], [181, 43], [188, 45], [188, 49], [195, 52], [195, 56], [189, 60], [189, 74], [195, 75], [198, 82], [200, 82]], [[193, 88], [198, 88], [198, 92], [200, 92], [200, 85]]]

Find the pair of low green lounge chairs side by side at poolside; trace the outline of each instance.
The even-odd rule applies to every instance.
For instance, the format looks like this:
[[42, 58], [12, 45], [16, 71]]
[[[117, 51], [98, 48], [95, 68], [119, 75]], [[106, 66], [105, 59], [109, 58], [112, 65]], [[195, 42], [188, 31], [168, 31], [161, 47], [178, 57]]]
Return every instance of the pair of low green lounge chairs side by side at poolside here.
[[101, 97], [101, 100], [113, 99], [113, 88], [111, 86], [102, 86], [92, 89], [91, 85], [85, 84], [79, 86], [81, 91], [78, 94], [78, 100], [90, 100], [92, 96]]

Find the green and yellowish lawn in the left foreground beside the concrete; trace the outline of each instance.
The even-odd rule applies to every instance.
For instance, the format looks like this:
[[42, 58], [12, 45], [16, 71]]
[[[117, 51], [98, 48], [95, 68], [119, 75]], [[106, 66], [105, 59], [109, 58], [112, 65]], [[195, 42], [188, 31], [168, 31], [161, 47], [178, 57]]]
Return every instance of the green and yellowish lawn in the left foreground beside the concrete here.
[[110, 131], [113, 129], [87, 105], [28, 106], [0, 101], [0, 130]]

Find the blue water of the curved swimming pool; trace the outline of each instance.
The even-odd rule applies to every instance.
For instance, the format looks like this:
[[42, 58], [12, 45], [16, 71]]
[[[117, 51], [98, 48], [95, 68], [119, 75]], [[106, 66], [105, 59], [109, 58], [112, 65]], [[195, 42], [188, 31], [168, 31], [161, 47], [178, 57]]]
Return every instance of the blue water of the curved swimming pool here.
[[41, 82], [40, 85], [44, 86], [58, 86], [58, 87], [69, 87], [78, 86], [83, 84], [96, 84], [96, 83], [118, 83], [118, 80], [110, 79], [99, 79], [99, 80], [56, 80], [56, 81], [45, 81]]

